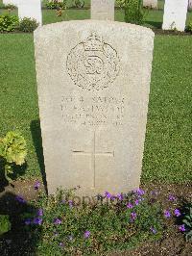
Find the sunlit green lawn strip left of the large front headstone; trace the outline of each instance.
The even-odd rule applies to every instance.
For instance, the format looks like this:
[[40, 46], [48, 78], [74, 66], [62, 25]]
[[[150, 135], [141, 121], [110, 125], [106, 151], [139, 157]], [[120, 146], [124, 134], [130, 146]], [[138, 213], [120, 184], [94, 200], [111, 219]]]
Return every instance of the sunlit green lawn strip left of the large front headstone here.
[[32, 35], [0, 36], [0, 137], [18, 129], [28, 143], [28, 174], [39, 174], [31, 122], [38, 119]]

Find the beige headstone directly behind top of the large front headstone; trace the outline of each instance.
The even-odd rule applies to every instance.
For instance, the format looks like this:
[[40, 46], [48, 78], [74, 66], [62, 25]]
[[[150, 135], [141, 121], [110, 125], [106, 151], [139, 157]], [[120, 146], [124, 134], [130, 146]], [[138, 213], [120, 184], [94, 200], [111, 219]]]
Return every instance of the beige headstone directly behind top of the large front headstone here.
[[114, 0], [91, 0], [91, 19], [114, 20]]

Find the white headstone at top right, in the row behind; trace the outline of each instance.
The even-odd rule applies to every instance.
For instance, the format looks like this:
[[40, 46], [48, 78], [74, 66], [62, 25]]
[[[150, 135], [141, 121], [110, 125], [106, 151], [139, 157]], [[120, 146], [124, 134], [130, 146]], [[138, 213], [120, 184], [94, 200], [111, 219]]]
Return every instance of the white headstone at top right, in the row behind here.
[[184, 31], [188, 0], [165, 0], [163, 30]]

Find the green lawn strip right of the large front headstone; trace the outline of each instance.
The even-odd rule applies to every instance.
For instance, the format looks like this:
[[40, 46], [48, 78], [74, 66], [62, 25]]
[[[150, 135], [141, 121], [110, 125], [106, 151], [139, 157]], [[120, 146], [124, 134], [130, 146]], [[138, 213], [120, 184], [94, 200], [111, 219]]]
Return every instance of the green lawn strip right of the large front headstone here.
[[143, 180], [192, 180], [192, 37], [156, 37]]

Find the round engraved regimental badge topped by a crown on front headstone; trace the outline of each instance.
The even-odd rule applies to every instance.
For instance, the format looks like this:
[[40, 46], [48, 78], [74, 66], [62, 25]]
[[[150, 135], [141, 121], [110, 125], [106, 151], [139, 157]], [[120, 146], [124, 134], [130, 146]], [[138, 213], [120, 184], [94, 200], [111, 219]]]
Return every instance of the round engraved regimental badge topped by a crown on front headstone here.
[[119, 73], [116, 50], [92, 33], [68, 54], [66, 67], [71, 79], [84, 90], [108, 88]]

